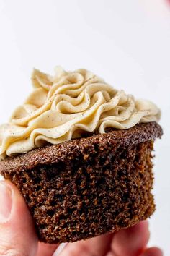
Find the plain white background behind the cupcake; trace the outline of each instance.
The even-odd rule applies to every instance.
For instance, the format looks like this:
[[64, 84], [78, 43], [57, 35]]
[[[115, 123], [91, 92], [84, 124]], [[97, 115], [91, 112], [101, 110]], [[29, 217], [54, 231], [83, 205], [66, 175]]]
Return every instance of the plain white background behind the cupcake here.
[[[0, 0], [0, 121], [31, 90], [32, 67], [84, 67], [162, 110], [151, 245], [170, 255], [170, 5], [166, 0]], [[128, 255], [127, 255], [128, 256]]]

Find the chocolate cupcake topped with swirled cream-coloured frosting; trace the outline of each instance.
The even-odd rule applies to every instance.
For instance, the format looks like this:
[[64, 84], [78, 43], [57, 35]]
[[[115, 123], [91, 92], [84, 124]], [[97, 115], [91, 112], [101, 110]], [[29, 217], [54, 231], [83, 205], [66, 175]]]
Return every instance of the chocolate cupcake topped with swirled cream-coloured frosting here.
[[0, 173], [24, 197], [40, 241], [76, 242], [150, 217], [159, 108], [85, 69], [35, 69], [32, 85], [0, 127]]

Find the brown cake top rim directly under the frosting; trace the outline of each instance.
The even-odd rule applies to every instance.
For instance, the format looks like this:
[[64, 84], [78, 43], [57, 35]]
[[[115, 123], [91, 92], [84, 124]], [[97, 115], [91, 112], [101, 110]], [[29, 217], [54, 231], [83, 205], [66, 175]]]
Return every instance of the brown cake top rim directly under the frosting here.
[[126, 147], [130, 143], [138, 144], [147, 140], [155, 140], [157, 137], [161, 138], [162, 134], [161, 126], [155, 121], [136, 124], [130, 129], [109, 129], [104, 134], [93, 134], [89, 137], [81, 137], [57, 145], [47, 145], [31, 150], [26, 154], [8, 157], [0, 162], [0, 174], [24, 171], [40, 165], [58, 163], [58, 161], [67, 161], [68, 158], [79, 158], [79, 155], [94, 153], [95, 146], [99, 150], [113, 148], [113, 145], [115, 148], [118, 145]]

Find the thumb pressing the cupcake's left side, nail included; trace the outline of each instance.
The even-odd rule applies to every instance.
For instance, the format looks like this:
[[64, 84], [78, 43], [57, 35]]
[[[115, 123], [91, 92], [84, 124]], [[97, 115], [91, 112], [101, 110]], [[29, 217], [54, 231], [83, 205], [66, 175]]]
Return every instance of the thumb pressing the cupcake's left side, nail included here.
[[0, 182], [0, 256], [35, 256], [37, 236], [27, 205], [11, 182]]

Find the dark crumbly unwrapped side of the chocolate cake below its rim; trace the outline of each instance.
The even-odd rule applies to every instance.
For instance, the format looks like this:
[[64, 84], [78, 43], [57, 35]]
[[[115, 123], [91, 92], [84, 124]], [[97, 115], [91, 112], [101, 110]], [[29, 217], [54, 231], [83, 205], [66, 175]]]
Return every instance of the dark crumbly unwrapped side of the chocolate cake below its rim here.
[[24, 196], [40, 241], [75, 242], [151, 216], [152, 150], [153, 140], [95, 145], [90, 154], [3, 175]]

